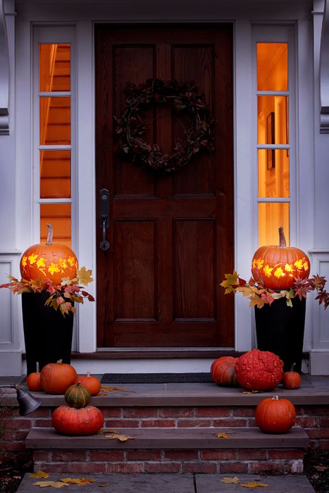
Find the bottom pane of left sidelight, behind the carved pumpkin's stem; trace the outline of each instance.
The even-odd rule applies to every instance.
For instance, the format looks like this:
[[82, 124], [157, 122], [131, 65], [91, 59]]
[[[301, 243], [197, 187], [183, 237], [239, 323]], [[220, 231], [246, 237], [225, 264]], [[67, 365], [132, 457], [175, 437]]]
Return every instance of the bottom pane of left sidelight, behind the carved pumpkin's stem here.
[[53, 242], [71, 247], [71, 204], [40, 205], [40, 242], [47, 241], [47, 223], [53, 225]]

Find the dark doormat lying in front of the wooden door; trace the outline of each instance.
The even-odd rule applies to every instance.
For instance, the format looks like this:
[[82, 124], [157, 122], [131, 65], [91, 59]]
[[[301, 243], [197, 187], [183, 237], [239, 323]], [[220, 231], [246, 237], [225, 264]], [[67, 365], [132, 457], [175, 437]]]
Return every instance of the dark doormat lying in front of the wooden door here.
[[105, 373], [101, 383], [204, 383], [210, 373]]

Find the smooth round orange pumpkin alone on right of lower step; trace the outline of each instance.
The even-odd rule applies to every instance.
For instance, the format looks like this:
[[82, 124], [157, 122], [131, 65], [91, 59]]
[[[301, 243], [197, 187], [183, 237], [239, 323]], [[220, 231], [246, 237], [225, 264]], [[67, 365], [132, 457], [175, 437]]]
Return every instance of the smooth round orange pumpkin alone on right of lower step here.
[[287, 433], [296, 419], [295, 406], [288, 399], [267, 397], [256, 407], [256, 425], [265, 433]]

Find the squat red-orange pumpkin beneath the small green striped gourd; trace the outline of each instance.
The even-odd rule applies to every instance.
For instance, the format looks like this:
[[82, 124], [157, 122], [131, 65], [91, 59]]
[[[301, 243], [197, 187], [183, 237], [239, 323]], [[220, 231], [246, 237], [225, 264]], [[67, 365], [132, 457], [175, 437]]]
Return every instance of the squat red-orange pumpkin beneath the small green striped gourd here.
[[53, 427], [63, 435], [93, 435], [103, 426], [103, 413], [94, 406], [57, 407], [51, 416]]

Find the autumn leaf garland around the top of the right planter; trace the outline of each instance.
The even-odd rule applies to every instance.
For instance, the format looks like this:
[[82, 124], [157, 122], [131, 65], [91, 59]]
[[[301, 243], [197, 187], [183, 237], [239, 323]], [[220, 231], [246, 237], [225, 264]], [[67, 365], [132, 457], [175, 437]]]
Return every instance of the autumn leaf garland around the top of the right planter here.
[[236, 270], [232, 274], [226, 274], [226, 279], [221, 283], [225, 289], [225, 294], [241, 292], [244, 297], [249, 299], [250, 307], [262, 308], [264, 305], [271, 305], [273, 301], [280, 298], [285, 298], [288, 306], [292, 307], [292, 299], [298, 297], [300, 300], [306, 298], [309, 292], [315, 291], [316, 300], [319, 305], [323, 304], [324, 309], [329, 306], [329, 293], [326, 291], [326, 278], [319, 275], [314, 275], [307, 279], [296, 277], [293, 286], [284, 290], [273, 290], [265, 288], [263, 284], [256, 281], [254, 277], [250, 277], [249, 282], [239, 277]]

